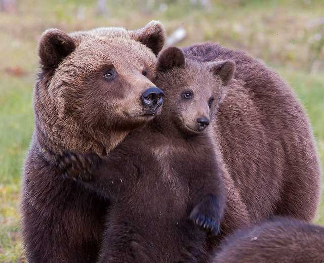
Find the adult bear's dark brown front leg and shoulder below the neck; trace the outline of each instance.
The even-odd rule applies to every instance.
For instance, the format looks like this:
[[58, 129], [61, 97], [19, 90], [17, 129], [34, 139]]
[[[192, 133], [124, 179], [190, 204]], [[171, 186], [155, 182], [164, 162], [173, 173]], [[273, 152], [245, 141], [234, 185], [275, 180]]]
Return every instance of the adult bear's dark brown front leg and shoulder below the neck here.
[[22, 235], [29, 263], [96, 262], [108, 201], [39, 156], [25, 166]]

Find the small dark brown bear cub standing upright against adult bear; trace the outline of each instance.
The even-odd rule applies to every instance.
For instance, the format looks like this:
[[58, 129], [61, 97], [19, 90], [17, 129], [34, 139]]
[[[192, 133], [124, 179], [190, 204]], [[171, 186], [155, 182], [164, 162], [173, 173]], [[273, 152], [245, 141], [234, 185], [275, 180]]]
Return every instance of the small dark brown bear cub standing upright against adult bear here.
[[66, 177], [111, 201], [100, 262], [209, 258], [208, 240], [219, 232], [226, 198], [206, 128], [234, 68], [229, 60], [186, 62], [180, 49], [166, 49], [157, 63], [162, 113], [103, 158], [58, 158]]

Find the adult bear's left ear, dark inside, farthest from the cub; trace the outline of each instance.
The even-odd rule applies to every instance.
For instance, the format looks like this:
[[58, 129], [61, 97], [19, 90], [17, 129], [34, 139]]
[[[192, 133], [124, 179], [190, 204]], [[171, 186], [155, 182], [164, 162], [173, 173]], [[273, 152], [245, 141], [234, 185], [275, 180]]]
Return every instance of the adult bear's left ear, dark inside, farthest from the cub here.
[[55, 68], [75, 49], [73, 39], [59, 29], [46, 30], [38, 45], [38, 56], [45, 68]]

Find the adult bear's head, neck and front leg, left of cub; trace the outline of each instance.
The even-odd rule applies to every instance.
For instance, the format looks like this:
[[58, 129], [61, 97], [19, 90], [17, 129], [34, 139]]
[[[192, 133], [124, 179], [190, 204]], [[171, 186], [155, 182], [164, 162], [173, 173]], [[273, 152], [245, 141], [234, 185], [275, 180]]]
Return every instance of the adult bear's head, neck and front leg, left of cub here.
[[42, 35], [22, 189], [29, 263], [96, 262], [108, 201], [63, 180], [54, 156], [105, 155], [159, 113], [163, 92], [151, 80], [164, 41], [165, 30], [154, 21], [135, 31], [49, 29]]

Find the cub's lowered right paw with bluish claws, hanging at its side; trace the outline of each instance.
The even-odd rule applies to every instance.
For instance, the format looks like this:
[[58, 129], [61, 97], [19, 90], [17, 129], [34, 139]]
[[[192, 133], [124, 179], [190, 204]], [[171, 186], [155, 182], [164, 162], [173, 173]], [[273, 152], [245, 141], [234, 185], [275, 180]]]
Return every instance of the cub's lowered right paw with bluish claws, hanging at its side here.
[[191, 211], [190, 219], [194, 224], [218, 235], [223, 212], [214, 195], [207, 195]]

